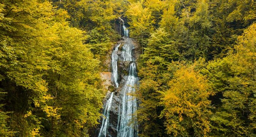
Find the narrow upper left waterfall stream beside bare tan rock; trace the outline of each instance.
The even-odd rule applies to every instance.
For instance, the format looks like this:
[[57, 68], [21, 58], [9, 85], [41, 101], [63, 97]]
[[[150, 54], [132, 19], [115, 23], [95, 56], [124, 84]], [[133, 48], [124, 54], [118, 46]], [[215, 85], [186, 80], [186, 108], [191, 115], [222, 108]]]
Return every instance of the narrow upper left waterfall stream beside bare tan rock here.
[[121, 45], [118, 44], [115, 49], [112, 52], [112, 82], [115, 84], [116, 87], [119, 86], [117, 80], [118, 80], [118, 72], [117, 72], [117, 60], [118, 60], [118, 55], [116, 54], [116, 51], [118, 51], [118, 47]]

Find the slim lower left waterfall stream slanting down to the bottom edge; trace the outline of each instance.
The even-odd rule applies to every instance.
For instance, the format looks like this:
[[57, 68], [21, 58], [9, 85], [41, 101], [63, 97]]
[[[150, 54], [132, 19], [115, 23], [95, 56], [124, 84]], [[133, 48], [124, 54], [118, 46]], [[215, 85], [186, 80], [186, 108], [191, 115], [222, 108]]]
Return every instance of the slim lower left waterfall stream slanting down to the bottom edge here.
[[108, 99], [108, 101], [105, 104], [104, 111], [103, 111], [104, 118], [102, 119], [102, 125], [101, 125], [101, 129], [100, 129], [98, 137], [106, 137], [106, 135], [107, 135], [108, 122], [109, 122], [108, 121], [109, 111], [110, 111], [110, 108], [111, 108], [111, 105], [112, 105], [113, 93], [114, 92], [111, 93], [110, 98]]

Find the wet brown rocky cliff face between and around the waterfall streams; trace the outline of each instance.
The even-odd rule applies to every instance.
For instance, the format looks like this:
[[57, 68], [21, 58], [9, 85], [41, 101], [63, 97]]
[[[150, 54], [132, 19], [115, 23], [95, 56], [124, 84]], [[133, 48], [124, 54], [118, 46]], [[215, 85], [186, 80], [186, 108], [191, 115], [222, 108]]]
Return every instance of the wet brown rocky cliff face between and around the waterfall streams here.
[[[114, 87], [114, 83], [112, 83], [111, 81], [111, 72], [112, 70], [110, 70], [110, 72], [102, 72], [101, 73], [101, 79], [104, 81], [104, 87], [107, 91], [106, 97], [104, 99], [104, 103], [110, 98], [111, 92], [114, 92], [113, 94], [113, 98], [112, 98], [112, 105], [111, 105], [111, 109], [109, 112], [109, 125], [108, 125], [108, 134], [106, 135], [107, 137], [116, 137], [117, 136], [117, 125], [118, 125], [118, 114], [119, 114], [119, 105], [121, 102], [121, 97], [122, 97], [122, 93], [120, 92], [120, 90], [122, 89], [122, 87], [124, 86], [124, 83], [127, 79], [127, 75], [129, 72], [129, 66], [131, 61], [123, 61], [121, 58], [121, 53], [123, 50], [123, 46], [125, 43], [125, 40], [127, 38], [123, 37], [122, 40], [120, 40], [117, 44], [121, 43], [118, 51], [116, 52], [116, 54], [118, 54], [118, 61], [117, 61], [117, 66], [118, 66], [118, 83], [119, 83], [119, 87], [116, 88]], [[137, 58], [139, 58], [140, 56], [140, 48], [139, 48], [139, 44], [135, 41], [132, 40], [131, 43], [134, 45], [134, 48], [132, 49], [132, 55], [133, 55], [133, 62], [136, 62]], [[111, 56], [111, 54], [109, 54], [108, 56]], [[108, 61], [110, 62], [110, 61]], [[111, 68], [111, 63], [109, 63], [109, 68]], [[100, 121], [101, 122], [101, 121]], [[95, 135], [92, 135], [94, 137], [98, 136], [98, 132], [101, 124], [99, 124], [97, 131], [95, 132]]]

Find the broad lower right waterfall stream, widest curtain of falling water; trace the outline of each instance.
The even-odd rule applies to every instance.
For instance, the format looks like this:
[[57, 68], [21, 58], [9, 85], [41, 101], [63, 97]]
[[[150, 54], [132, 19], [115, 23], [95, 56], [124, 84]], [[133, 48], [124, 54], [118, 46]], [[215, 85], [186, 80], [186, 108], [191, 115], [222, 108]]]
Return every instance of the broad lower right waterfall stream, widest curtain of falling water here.
[[[118, 116], [118, 135], [117, 137], [137, 137], [138, 126], [136, 116], [134, 112], [137, 111], [137, 100], [133, 96], [129, 95], [135, 92], [135, 87], [138, 82], [136, 65], [134, 62], [130, 64], [129, 76], [125, 85], [121, 90], [123, 95], [122, 101], [119, 107]], [[131, 122], [133, 121], [133, 122]]]

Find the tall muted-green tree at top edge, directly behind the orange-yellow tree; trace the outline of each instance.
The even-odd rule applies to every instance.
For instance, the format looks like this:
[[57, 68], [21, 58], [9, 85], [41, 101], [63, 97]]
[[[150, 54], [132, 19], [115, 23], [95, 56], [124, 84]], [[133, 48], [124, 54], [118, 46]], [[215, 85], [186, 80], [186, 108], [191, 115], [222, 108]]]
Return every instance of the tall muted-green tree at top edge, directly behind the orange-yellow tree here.
[[189, 20], [184, 18], [183, 20], [188, 21], [188, 35], [189, 40], [183, 50], [185, 58], [191, 60], [198, 59], [199, 57], [208, 57], [212, 23], [211, 16], [208, 11], [208, 1], [199, 0], [197, 1], [196, 11], [193, 16], [189, 17]]

